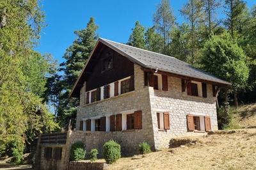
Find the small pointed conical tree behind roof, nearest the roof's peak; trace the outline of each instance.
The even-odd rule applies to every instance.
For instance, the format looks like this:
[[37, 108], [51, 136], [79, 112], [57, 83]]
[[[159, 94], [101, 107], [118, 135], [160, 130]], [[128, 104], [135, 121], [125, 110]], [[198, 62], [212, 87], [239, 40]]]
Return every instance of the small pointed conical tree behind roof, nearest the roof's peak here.
[[132, 34], [130, 35], [128, 44], [133, 47], [138, 47], [140, 49], [145, 49], [145, 38], [144, 38], [145, 28], [141, 26], [140, 22], [137, 20], [135, 22], [135, 27], [132, 29]]

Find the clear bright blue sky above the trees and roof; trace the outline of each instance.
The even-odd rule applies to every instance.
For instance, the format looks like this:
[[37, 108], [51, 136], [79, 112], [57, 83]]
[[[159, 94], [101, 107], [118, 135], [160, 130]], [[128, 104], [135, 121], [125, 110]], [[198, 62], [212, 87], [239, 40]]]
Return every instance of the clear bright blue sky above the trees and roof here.
[[[152, 26], [152, 18], [161, 0], [43, 0], [45, 24], [36, 50], [50, 53], [61, 63], [63, 54], [76, 36], [74, 31], [86, 27], [90, 17], [99, 26], [97, 33], [102, 38], [116, 42], [127, 42], [136, 20], [145, 27]], [[256, 4], [247, 0], [248, 6]], [[171, 0], [177, 22], [184, 22], [179, 10], [186, 0]]]

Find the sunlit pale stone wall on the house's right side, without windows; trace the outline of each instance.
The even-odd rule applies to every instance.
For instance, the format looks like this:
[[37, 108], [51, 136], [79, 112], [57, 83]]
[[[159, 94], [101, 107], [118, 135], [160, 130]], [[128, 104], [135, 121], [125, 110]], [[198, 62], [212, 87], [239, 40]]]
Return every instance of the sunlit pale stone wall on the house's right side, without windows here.
[[[211, 116], [212, 130], [218, 130], [216, 98], [212, 97], [212, 86], [207, 84], [207, 98], [188, 96], [181, 91], [181, 80], [168, 77], [168, 91], [149, 89], [154, 141], [156, 149], [167, 148], [172, 137], [186, 135], [202, 135], [202, 133], [188, 132], [187, 114]], [[170, 112], [170, 130], [159, 130], [156, 112]]]

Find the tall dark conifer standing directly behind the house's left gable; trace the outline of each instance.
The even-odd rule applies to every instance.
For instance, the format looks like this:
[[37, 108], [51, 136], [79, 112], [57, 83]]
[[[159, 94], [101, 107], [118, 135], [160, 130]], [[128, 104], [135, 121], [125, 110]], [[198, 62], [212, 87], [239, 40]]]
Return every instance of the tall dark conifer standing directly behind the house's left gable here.
[[[64, 72], [56, 86], [59, 87], [58, 97], [58, 121], [62, 127], [67, 128], [68, 121], [76, 119], [77, 105], [79, 100], [77, 98], [69, 98], [72, 86], [74, 86], [84, 63], [90, 56], [90, 53], [95, 46], [98, 38], [95, 31], [98, 26], [95, 25], [94, 19], [90, 18], [85, 29], [75, 31], [77, 39], [66, 50], [63, 58], [66, 59], [64, 63], [60, 64], [60, 71]], [[73, 121], [73, 125], [74, 125]]]

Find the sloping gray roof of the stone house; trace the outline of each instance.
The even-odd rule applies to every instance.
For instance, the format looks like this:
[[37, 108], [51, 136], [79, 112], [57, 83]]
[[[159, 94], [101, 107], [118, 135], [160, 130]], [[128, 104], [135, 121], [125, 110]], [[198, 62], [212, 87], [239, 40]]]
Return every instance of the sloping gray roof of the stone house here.
[[215, 77], [207, 72], [194, 68], [193, 66], [180, 61], [177, 58], [166, 56], [149, 50], [143, 50], [130, 45], [113, 42], [104, 38], [99, 38], [99, 41], [108, 45], [111, 49], [120, 52], [127, 58], [138, 63], [145, 68], [157, 69], [163, 72], [170, 72], [177, 75], [183, 75], [187, 77], [193, 77], [196, 79], [202, 79], [205, 81], [218, 82], [220, 84], [230, 85], [230, 82], [223, 81], [218, 77]]

